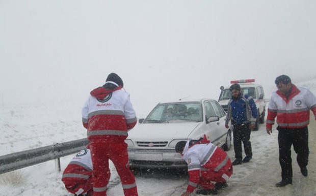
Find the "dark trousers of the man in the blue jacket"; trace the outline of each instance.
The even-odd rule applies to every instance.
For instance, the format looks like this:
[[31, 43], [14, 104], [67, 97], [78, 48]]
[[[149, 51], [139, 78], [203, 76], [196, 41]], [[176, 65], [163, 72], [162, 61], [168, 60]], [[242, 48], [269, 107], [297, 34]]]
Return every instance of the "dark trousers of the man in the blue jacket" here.
[[246, 156], [252, 157], [251, 143], [250, 143], [250, 133], [249, 128], [250, 123], [246, 124], [235, 124], [233, 123], [233, 144], [235, 151], [235, 158], [243, 158], [242, 142], [244, 144]]

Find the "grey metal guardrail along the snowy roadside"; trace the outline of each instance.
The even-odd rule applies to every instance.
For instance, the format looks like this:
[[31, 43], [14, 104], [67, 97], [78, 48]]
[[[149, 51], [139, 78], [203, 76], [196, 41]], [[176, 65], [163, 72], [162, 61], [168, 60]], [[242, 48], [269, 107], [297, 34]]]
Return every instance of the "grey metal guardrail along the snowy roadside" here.
[[[89, 144], [87, 138], [0, 156], [0, 174], [74, 154]], [[60, 166], [59, 166], [60, 167]]]

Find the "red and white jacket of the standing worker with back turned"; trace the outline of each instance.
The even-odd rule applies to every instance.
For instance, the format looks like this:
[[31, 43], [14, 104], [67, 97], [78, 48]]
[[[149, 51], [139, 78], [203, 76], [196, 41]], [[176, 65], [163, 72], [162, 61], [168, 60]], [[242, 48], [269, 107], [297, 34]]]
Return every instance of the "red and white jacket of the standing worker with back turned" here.
[[119, 86], [113, 90], [98, 87], [82, 109], [83, 125], [89, 141], [117, 143], [127, 138], [127, 131], [137, 123], [129, 94]]

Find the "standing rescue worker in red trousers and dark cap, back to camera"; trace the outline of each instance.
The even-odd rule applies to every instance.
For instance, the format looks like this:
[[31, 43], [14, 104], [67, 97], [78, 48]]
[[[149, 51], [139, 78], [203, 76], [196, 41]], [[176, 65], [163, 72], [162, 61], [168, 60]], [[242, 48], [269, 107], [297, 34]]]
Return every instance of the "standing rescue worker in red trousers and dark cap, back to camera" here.
[[115, 73], [106, 83], [90, 92], [82, 109], [83, 124], [88, 129], [93, 162], [93, 195], [106, 195], [109, 183], [109, 159], [120, 176], [124, 195], [138, 195], [136, 181], [129, 169], [127, 131], [136, 123], [136, 114], [123, 90], [123, 81]]

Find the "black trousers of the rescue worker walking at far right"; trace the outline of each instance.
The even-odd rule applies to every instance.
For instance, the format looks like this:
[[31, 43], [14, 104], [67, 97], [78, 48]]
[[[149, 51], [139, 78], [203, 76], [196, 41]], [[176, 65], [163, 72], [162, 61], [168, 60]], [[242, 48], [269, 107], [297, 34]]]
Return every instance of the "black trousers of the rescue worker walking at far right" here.
[[292, 179], [291, 146], [297, 154], [296, 160], [300, 168], [308, 164], [308, 128], [281, 128], [277, 127], [279, 142], [279, 161], [282, 180]]

